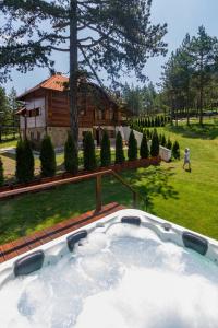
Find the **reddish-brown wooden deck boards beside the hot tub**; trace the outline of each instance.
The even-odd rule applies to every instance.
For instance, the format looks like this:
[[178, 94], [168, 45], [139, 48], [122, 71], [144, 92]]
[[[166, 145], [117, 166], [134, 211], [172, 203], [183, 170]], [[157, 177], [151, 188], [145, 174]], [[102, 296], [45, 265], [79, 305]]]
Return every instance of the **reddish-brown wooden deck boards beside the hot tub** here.
[[0, 245], [0, 263], [123, 209], [123, 206], [112, 202], [104, 206], [98, 213], [93, 210], [36, 232], [29, 236]]

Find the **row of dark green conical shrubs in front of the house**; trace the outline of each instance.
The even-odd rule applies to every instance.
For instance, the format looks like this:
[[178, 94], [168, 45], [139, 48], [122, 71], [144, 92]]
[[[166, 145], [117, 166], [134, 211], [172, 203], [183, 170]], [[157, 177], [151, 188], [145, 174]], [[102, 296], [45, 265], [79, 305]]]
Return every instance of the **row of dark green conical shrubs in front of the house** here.
[[[159, 155], [159, 145], [164, 137], [158, 137], [155, 129], [152, 134], [150, 151], [147, 145], [147, 134], [143, 133], [143, 139], [140, 147], [140, 157], [148, 159]], [[169, 143], [169, 140], [168, 140]], [[130, 133], [128, 147], [128, 160], [134, 161], [138, 157], [137, 141], [133, 130]], [[174, 157], [180, 157], [179, 143], [175, 142], [172, 147]], [[56, 153], [49, 136], [46, 136], [40, 148], [40, 174], [43, 177], [52, 177], [56, 175]], [[120, 132], [116, 137], [116, 164], [122, 164], [125, 161], [123, 140]], [[20, 140], [16, 145], [16, 172], [15, 176], [19, 183], [28, 183], [34, 179], [34, 155], [28, 140]], [[92, 132], [86, 132], [83, 140], [83, 165], [85, 171], [95, 171], [97, 168], [95, 143]], [[108, 167], [111, 165], [111, 148], [110, 139], [107, 131], [102, 133], [100, 148], [100, 166]], [[78, 154], [72, 136], [69, 133], [64, 145], [64, 167], [65, 172], [76, 174], [78, 172]], [[0, 186], [3, 185], [3, 164], [0, 159]]]

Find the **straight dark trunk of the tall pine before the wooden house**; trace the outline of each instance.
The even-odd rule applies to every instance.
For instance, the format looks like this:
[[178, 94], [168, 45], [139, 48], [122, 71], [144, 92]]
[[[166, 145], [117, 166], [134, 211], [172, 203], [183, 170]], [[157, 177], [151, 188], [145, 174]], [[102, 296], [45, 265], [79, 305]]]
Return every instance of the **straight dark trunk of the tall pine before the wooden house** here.
[[77, 148], [78, 141], [78, 110], [77, 110], [77, 0], [70, 2], [70, 125], [71, 133]]

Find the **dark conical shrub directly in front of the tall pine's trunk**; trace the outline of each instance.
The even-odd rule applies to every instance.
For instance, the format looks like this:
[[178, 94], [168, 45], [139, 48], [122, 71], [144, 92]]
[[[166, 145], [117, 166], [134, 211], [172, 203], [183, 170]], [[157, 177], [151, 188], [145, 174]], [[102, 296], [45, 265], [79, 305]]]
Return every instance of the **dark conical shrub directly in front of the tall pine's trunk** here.
[[64, 167], [68, 173], [77, 174], [78, 172], [77, 149], [71, 133], [64, 144]]

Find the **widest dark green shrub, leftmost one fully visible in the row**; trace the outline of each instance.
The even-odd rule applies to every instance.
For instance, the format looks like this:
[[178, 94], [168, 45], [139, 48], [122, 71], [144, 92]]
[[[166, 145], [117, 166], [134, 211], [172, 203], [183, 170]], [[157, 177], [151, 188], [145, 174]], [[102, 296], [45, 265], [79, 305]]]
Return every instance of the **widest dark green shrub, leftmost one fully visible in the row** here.
[[31, 142], [19, 140], [16, 144], [16, 171], [15, 176], [19, 183], [28, 183], [34, 178], [34, 155]]

